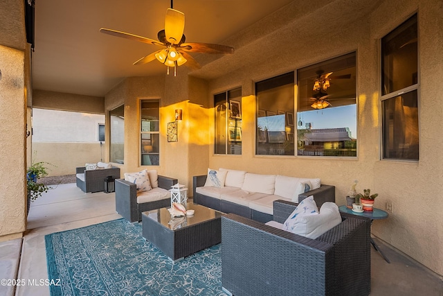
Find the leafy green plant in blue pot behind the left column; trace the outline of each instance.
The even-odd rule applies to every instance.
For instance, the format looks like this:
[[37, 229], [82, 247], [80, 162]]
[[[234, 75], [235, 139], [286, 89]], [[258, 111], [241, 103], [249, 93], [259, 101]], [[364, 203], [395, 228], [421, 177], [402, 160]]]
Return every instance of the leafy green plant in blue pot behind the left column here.
[[28, 189], [28, 213], [30, 202], [36, 200], [42, 193], [48, 192], [50, 187], [39, 183], [39, 179], [48, 175], [47, 162], [35, 162], [26, 171], [26, 185]]

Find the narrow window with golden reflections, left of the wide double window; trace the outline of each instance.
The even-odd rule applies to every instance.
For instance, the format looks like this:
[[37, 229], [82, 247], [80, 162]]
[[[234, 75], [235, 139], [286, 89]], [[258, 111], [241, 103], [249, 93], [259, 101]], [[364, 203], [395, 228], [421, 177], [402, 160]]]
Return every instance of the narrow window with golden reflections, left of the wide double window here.
[[214, 96], [215, 154], [242, 154], [242, 87]]

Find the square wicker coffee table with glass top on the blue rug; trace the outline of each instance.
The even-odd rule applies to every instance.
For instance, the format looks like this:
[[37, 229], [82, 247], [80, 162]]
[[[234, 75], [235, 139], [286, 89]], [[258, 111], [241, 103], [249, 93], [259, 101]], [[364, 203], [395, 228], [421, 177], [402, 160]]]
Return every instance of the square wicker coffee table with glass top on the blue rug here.
[[168, 208], [141, 214], [143, 237], [172, 261], [221, 242], [222, 213], [192, 202], [186, 209], [195, 210], [195, 214], [171, 219]]

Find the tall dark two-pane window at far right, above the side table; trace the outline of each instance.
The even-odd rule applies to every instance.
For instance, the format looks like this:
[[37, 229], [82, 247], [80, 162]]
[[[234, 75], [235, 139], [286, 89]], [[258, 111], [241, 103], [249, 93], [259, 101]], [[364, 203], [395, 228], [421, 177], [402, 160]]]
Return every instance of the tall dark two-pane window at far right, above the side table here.
[[381, 39], [383, 159], [419, 159], [417, 37], [414, 15]]

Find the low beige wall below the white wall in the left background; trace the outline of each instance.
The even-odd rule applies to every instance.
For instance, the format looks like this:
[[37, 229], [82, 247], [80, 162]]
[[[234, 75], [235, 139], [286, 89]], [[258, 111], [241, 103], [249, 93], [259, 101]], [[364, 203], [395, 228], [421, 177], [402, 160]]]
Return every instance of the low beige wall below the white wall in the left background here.
[[[72, 175], [75, 168], [105, 160], [106, 143], [33, 142], [33, 162], [48, 162], [48, 175]], [[100, 160], [101, 159], [101, 160]]]

